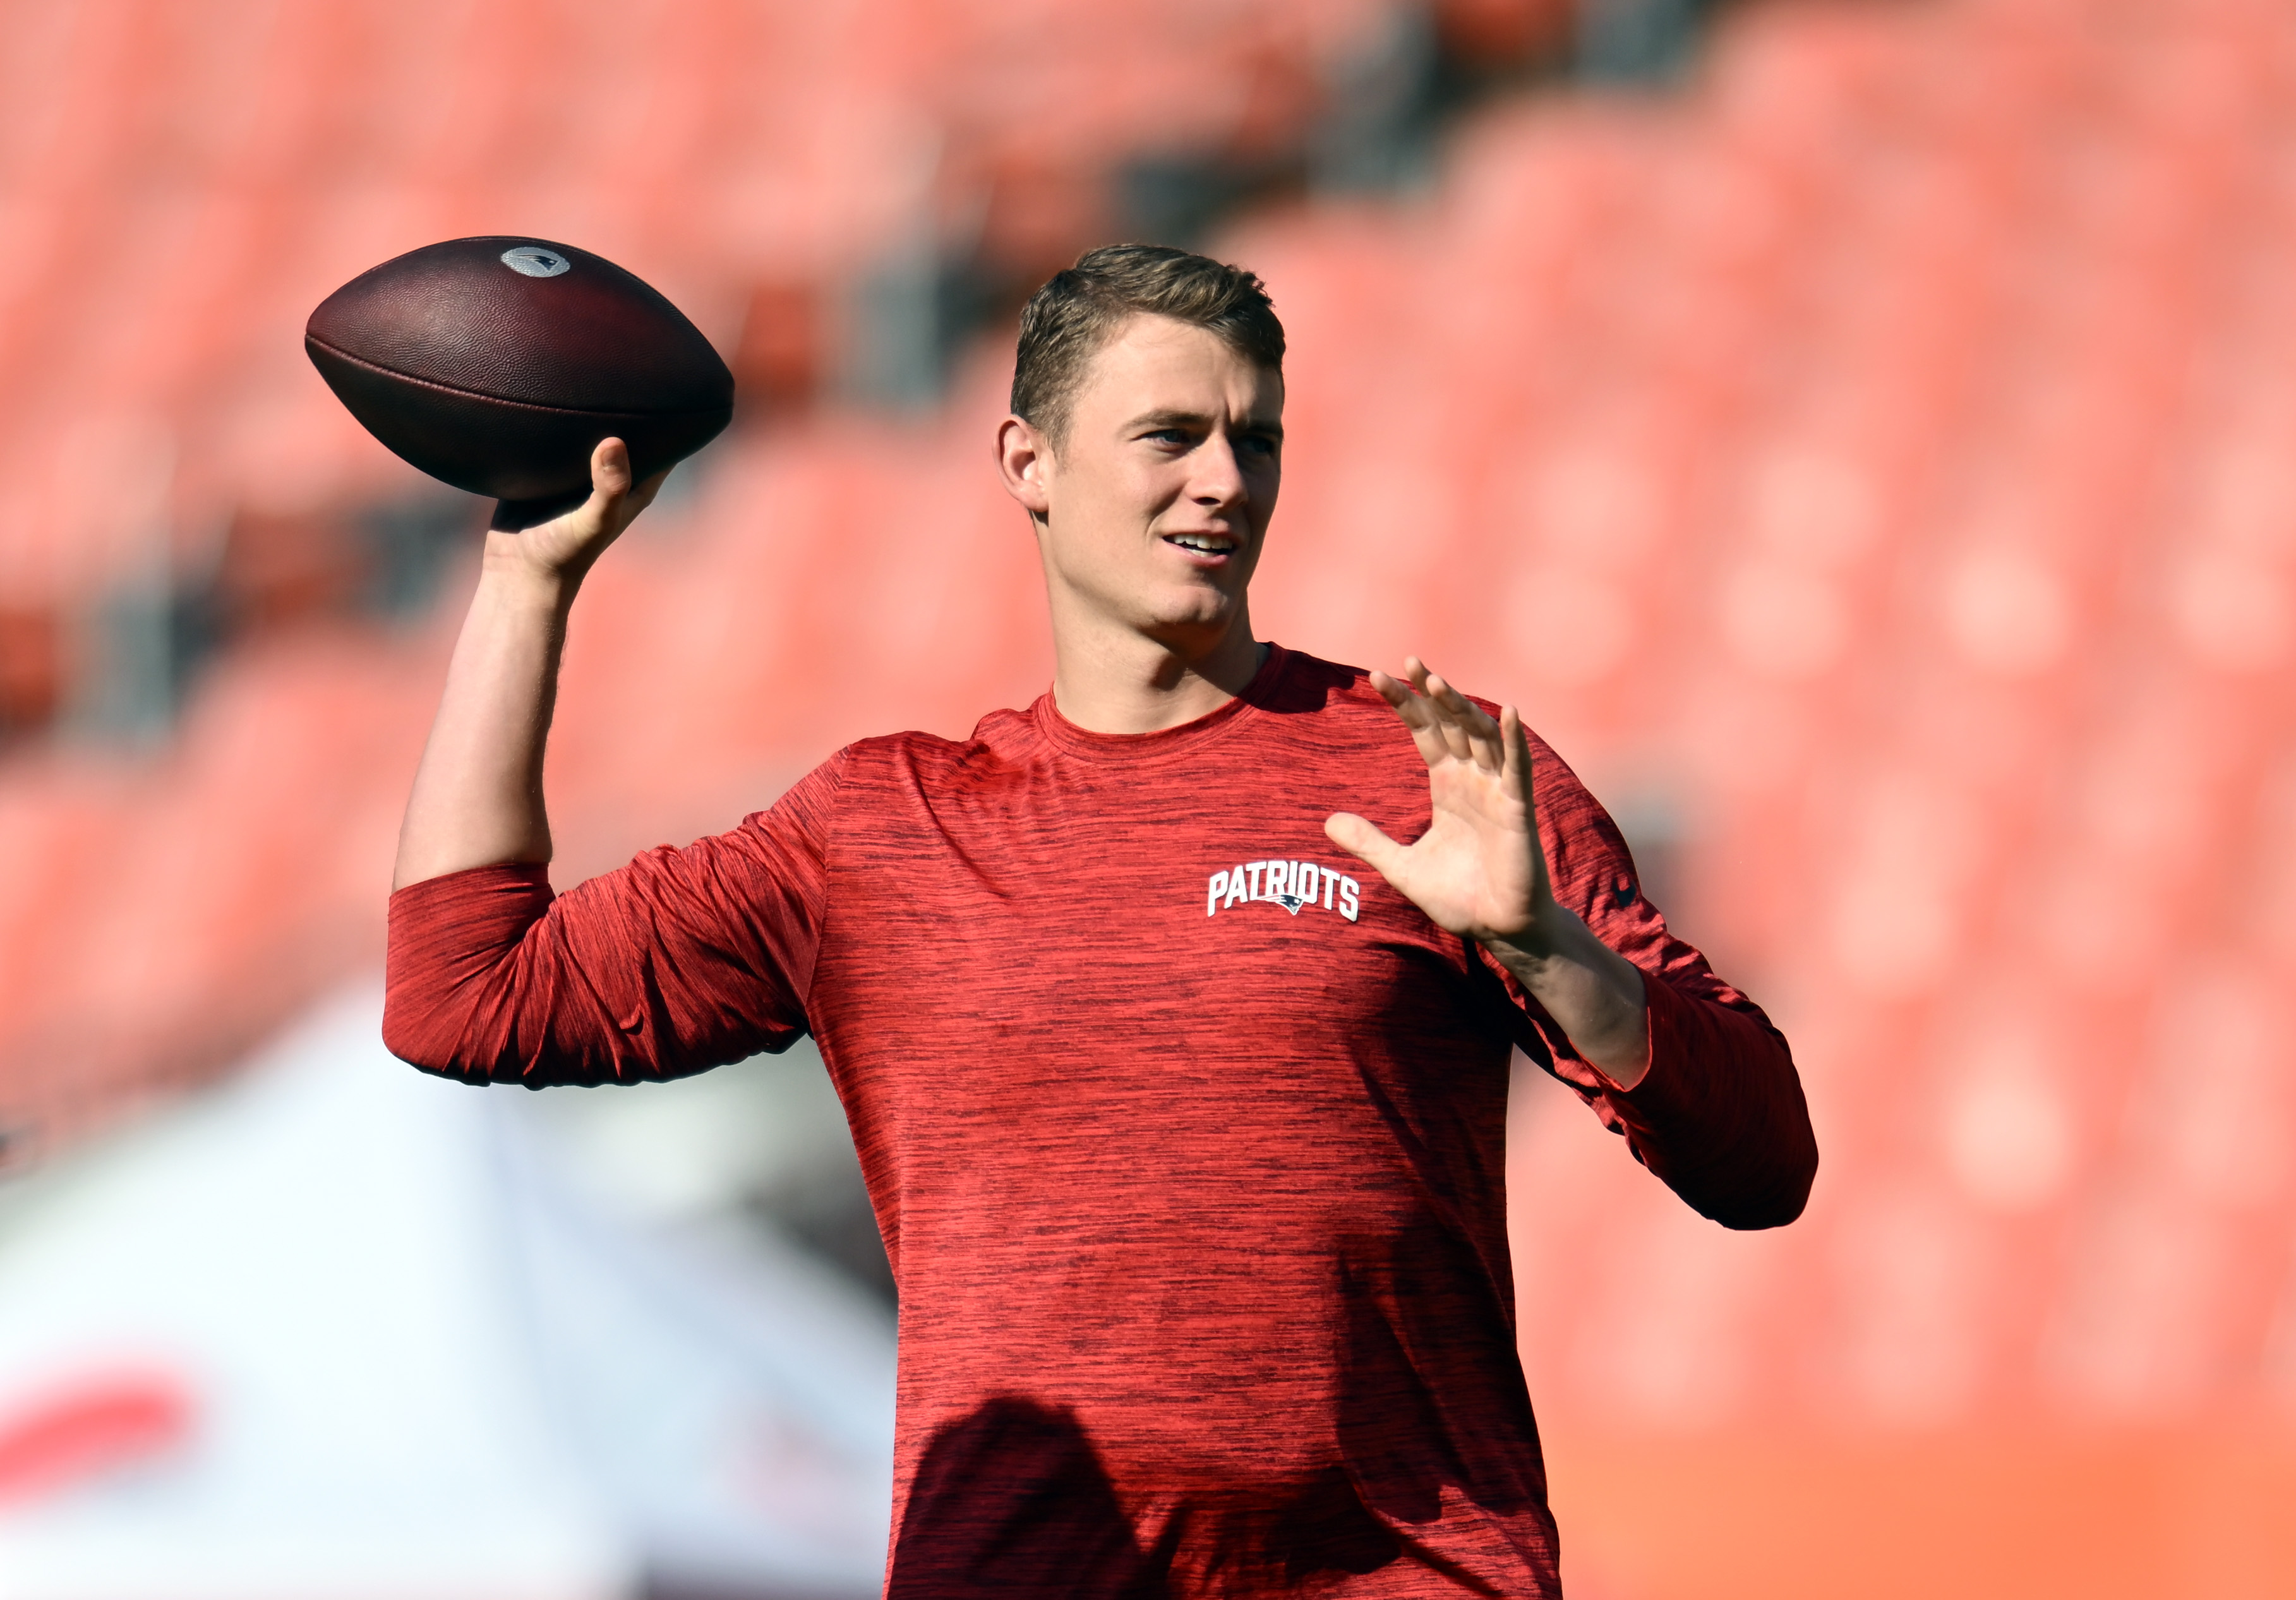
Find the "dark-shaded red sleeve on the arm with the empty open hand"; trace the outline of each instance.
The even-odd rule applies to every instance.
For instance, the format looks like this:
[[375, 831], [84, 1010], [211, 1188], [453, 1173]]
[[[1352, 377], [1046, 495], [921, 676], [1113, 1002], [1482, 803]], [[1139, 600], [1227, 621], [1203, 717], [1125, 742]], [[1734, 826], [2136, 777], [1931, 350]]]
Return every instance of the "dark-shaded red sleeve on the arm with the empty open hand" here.
[[1701, 1217], [1727, 1228], [1777, 1228], [1802, 1214], [1818, 1171], [1793, 1054], [1754, 1001], [1667, 930], [1642, 895], [1626, 838], [1552, 751], [1536, 748], [1538, 831], [1554, 898], [1603, 943], [1642, 969], [1649, 1070], [1626, 1090], [1488, 950], [1513, 1001], [1525, 1054], [1568, 1084], [1628, 1148]]

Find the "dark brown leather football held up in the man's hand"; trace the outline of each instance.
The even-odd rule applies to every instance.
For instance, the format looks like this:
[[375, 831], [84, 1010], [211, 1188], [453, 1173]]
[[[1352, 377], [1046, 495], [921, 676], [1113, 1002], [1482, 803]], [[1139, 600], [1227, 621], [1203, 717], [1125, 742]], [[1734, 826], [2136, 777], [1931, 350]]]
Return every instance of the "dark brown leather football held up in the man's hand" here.
[[303, 349], [393, 452], [526, 528], [590, 491], [622, 438], [643, 480], [732, 418], [732, 372], [613, 262], [549, 239], [448, 239], [374, 266], [310, 314]]

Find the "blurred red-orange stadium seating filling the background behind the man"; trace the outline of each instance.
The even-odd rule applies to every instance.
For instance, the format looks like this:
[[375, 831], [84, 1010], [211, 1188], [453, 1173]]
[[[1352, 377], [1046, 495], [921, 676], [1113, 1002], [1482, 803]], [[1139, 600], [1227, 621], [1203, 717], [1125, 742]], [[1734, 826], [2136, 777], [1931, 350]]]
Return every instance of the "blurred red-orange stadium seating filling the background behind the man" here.
[[[0, 1283], [57, 1182], [381, 957], [484, 507], [319, 383], [326, 292], [565, 239], [739, 374], [576, 613], [565, 884], [1040, 691], [1010, 312], [1143, 236], [1290, 328], [1263, 631], [1520, 700], [1805, 1070], [1816, 1198], [1752, 1237], [1520, 1084], [1573, 1591], [2296, 1593], [2285, 0], [14, 0], [0, 39]], [[824, 1095], [519, 1116], [634, 1226], [886, 1318]], [[0, 1540], [174, 1439], [41, 1467], [18, 1389]]]

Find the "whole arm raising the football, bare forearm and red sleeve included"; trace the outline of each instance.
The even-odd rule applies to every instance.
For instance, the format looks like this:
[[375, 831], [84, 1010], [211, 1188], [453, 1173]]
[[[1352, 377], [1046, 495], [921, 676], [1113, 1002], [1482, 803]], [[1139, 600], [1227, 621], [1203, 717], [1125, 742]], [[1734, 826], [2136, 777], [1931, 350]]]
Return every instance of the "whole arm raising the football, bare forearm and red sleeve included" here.
[[390, 895], [383, 1042], [466, 1081], [677, 1077], [806, 1031], [838, 764], [732, 833], [553, 895], [542, 751], [567, 611], [645, 507], [620, 441], [579, 510], [489, 533]]

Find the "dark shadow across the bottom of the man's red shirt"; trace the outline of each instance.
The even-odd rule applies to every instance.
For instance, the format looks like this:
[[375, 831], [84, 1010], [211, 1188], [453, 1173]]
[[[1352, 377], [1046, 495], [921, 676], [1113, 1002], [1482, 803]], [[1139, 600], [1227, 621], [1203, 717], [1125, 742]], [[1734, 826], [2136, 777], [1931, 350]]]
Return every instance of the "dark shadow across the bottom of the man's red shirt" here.
[[[1352, 1256], [1343, 1276], [1355, 1313], [1329, 1460], [1281, 1478], [1217, 1476], [1196, 1460], [1187, 1490], [1157, 1506], [1159, 1527], [1139, 1529], [1075, 1412], [996, 1396], [925, 1446], [889, 1600], [1290, 1591], [1403, 1559], [1414, 1540], [1401, 1529], [1442, 1520], [1446, 1485], [1499, 1517], [1529, 1513], [1552, 1538], [1513, 1352], [1460, 1345], [1463, 1329], [1504, 1329], [1488, 1308], [1456, 1304], [1458, 1286], [1476, 1281], [1472, 1249], [1430, 1217]], [[1440, 1554], [1421, 1554], [1444, 1570]]]

